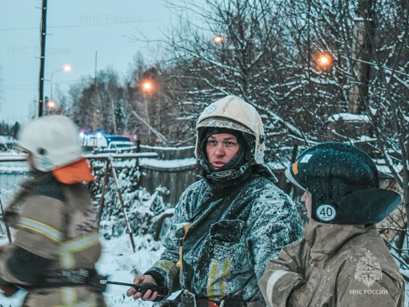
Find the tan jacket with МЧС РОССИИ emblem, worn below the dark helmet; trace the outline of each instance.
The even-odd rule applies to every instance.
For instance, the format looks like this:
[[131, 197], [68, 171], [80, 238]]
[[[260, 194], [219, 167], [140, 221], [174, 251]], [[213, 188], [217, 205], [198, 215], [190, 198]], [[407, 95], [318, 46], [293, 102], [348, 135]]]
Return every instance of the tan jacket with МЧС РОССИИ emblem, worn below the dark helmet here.
[[311, 221], [259, 286], [270, 307], [403, 307], [405, 283], [374, 225]]

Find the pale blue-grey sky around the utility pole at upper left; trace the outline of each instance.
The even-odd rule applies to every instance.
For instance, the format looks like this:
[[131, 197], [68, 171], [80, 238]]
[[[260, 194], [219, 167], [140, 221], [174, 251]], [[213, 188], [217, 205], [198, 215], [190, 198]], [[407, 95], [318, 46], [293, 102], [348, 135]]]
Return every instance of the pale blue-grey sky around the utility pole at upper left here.
[[[41, 4], [0, 0], [0, 121], [24, 122], [37, 110]], [[112, 65], [122, 75], [138, 51], [152, 59], [152, 48], [127, 37], [141, 31], [161, 38], [171, 17], [162, 0], [49, 0], [44, 96], [51, 96], [51, 74], [65, 64], [72, 71], [53, 75], [54, 100], [57, 86], [66, 92], [81, 76], [94, 75], [96, 51], [98, 70]]]

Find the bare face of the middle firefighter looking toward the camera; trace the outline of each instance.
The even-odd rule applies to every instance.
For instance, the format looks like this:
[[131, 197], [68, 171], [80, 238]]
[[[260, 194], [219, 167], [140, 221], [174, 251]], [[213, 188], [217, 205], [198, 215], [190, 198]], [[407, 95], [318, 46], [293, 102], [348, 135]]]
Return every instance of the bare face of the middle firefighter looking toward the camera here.
[[211, 135], [206, 143], [206, 153], [214, 169], [219, 169], [232, 160], [239, 148], [236, 137], [227, 133]]

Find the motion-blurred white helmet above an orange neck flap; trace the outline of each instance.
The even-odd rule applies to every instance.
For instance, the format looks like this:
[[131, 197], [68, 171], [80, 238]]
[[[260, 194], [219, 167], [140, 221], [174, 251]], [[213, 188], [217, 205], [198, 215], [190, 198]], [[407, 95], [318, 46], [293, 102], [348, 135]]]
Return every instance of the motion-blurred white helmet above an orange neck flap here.
[[43, 116], [24, 125], [17, 146], [30, 151], [34, 168], [51, 171], [81, 159], [79, 130], [62, 115]]

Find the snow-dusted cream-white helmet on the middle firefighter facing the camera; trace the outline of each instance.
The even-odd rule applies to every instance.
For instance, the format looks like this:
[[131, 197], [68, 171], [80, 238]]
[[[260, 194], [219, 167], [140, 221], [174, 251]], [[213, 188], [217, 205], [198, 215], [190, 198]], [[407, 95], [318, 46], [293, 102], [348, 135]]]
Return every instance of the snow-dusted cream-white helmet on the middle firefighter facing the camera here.
[[199, 131], [201, 127], [220, 127], [243, 131], [255, 137], [254, 161], [264, 158], [264, 127], [256, 108], [236, 96], [226, 96], [205, 108], [196, 124], [195, 156], [199, 159]]

